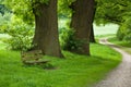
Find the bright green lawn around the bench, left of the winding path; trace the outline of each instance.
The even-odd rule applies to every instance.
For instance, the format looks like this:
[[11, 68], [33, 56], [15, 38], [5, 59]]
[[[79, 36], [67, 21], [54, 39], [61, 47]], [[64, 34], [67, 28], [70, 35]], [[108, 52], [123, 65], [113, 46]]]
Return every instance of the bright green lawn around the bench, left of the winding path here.
[[56, 70], [26, 66], [20, 52], [0, 50], [0, 87], [91, 87], [116, 67], [121, 55], [107, 46], [92, 44], [92, 57], [63, 51], [66, 59], [44, 57]]

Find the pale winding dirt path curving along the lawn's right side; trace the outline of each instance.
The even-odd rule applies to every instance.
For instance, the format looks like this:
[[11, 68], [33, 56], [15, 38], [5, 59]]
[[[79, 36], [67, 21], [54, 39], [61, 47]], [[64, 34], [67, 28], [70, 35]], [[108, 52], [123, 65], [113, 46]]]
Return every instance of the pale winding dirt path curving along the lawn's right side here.
[[128, 54], [123, 50], [119, 49], [119, 47], [108, 42], [107, 38], [100, 39], [99, 42], [108, 45], [119, 51], [123, 59], [122, 62], [95, 87], [131, 87], [131, 54]]

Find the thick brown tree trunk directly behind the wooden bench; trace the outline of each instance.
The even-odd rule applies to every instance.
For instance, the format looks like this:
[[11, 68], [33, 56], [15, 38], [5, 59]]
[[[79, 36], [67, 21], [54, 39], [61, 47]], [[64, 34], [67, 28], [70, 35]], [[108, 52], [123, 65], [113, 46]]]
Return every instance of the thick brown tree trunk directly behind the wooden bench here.
[[49, 3], [34, 4], [35, 14], [35, 36], [33, 45], [35, 49], [43, 50], [44, 54], [62, 57], [59, 35], [58, 35], [58, 17], [57, 17], [57, 0], [49, 0]]

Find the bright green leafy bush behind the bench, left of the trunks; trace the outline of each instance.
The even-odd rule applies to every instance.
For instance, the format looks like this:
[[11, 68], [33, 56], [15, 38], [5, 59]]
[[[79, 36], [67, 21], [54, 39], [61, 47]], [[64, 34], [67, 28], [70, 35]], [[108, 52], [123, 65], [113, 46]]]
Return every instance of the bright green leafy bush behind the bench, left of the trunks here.
[[32, 48], [33, 26], [25, 24], [17, 17], [13, 17], [10, 28], [4, 32], [11, 36], [7, 42], [13, 50], [27, 50]]

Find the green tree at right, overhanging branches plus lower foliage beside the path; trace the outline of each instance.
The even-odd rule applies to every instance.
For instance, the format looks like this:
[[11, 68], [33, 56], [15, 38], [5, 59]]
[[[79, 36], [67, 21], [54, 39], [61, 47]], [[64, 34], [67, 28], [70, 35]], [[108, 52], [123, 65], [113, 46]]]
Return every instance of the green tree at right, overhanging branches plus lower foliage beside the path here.
[[119, 40], [130, 41], [130, 0], [97, 0], [98, 7], [95, 16], [96, 24], [115, 23], [120, 27], [117, 33]]

